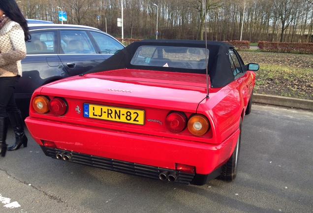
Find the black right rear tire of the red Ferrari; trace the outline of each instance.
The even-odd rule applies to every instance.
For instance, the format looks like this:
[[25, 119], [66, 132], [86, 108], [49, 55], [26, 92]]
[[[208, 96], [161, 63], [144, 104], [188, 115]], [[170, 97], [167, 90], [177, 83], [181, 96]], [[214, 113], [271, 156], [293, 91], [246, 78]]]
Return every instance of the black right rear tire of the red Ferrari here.
[[240, 133], [237, 139], [235, 149], [232, 155], [230, 156], [230, 158], [224, 164], [222, 171], [220, 173], [220, 176], [219, 176], [219, 178], [222, 180], [233, 181], [237, 176], [238, 159], [239, 159], [240, 143], [241, 143], [241, 118], [240, 118], [240, 124], [238, 128], [240, 130]]

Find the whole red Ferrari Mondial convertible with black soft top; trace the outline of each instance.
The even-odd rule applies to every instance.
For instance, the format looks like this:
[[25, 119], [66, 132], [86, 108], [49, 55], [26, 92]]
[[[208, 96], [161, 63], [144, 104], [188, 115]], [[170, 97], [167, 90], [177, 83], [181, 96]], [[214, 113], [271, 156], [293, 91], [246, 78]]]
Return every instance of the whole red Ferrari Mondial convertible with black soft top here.
[[258, 69], [226, 42], [142, 40], [36, 89], [25, 122], [55, 159], [185, 184], [233, 180]]

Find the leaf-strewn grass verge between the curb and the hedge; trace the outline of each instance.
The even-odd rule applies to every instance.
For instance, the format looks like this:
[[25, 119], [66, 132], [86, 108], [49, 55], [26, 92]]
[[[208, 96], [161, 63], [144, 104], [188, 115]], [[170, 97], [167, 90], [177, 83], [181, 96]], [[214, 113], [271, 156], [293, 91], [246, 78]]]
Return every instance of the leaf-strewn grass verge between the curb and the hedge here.
[[239, 51], [245, 63], [258, 63], [255, 93], [313, 100], [313, 55]]

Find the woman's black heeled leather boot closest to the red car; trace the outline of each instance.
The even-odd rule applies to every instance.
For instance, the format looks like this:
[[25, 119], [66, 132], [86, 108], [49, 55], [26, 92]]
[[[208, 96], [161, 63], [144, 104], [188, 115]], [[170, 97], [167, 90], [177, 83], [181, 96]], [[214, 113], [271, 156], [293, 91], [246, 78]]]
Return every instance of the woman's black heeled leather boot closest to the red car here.
[[23, 127], [23, 119], [21, 115], [21, 111], [18, 110], [16, 112], [8, 112], [8, 117], [10, 119], [11, 125], [13, 127], [13, 131], [15, 133], [15, 143], [8, 147], [7, 150], [17, 150], [21, 147], [23, 144], [24, 147], [27, 147], [27, 137], [24, 132], [24, 127]]

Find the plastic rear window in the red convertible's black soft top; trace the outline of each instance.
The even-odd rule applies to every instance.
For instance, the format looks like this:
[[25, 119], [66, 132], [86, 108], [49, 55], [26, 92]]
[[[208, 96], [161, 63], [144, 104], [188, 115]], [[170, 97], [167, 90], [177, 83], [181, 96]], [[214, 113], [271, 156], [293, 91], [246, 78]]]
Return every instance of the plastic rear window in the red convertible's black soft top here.
[[[206, 49], [180, 46], [141, 46], [135, 52], [130, 64], [182, 68], [189, 70], [206, 69]], [[209, 50], [207, 50], [207, 58]]]

